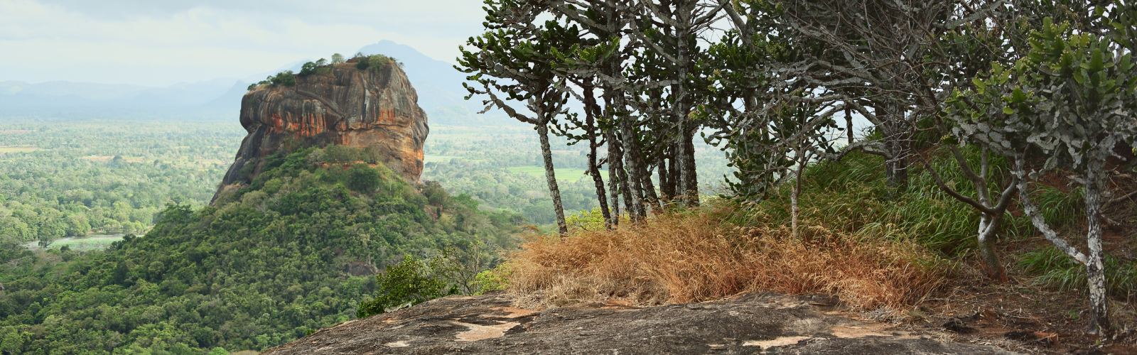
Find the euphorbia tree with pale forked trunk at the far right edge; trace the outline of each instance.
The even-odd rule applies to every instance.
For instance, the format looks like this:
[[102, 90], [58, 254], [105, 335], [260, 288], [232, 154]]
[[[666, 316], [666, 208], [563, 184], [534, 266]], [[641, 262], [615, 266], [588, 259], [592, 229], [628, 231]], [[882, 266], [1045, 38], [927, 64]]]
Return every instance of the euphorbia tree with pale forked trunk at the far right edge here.
[[[1114, 22], [1118, 27], [1132, 24]], [[1134, 33], [1118, 31], [1117, 33]], [[1102, 250], [1102, 205], [1106, 163], [1123, 159], [1122, 145], [1137, 137], [1137, 75], [1126, 41], [1073, 31], [1045, 19], [1030, 33], [1031, 51], [1011, 69], [994, 65], [976, 89], [955, 92], [955, 134], [1014, 159], [1019, 199], [1035, 226], [1059, 249], [1086, 265], [1092, 304], [1088, 331], [1110, 329], [1105, 264]], [[1041, 167], [1027, 165], [1028, 154], [1041, 151]], [[1057, 166], [1069, 168], [1085, 188], [1087, 251], [1070, 245], [1051, 228], [1031, 200], [1028, 182]]]

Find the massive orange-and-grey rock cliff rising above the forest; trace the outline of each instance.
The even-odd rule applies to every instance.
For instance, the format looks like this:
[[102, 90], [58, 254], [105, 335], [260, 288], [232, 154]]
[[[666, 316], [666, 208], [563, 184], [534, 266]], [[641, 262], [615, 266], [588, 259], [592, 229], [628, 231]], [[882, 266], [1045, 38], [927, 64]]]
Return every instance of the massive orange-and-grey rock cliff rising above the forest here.
[[339, 64], [330, 73], [297, 75], [291, 88], [254, 89], [241, 101], [241, 125], [249, 135], [218, 192], [249, 181], [260, 173], [262, 158], [296, 143], [373, 147], [391, 171], [417, 181], [430, 131], [417, 101], [393, 63], [365, 71]]

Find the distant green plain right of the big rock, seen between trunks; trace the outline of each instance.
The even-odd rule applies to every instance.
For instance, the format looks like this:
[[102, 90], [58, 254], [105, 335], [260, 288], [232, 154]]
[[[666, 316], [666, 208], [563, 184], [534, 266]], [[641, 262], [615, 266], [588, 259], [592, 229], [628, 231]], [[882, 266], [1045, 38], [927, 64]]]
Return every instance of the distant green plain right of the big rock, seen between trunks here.
[[[570, 146], [561, 137], [553, 138], [551, 145], [565, 213], [599, 207], [596, 185], [586, 175], [588, 147]], [[424, 148], [430, 156], [423, 179], [437, 180], [454, 193], [467, 193], [483, 208], [514, 210], [532, 223], [555, 228], [556, 215], [538, 147], [533, 130], [524, 126], [432, 126]], [[700, 190], [715, 193], [732, 170], [720, 149], [704, 142], [696, 147], [699, 179], [706, 181]]]

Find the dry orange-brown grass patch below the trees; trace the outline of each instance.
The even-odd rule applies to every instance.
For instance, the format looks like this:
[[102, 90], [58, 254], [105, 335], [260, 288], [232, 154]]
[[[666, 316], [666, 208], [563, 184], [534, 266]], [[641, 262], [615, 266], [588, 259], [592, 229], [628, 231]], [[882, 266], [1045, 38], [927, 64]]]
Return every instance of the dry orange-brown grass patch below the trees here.
[[780, 223], [754, 218], [762, 217], [715, 201], [613, 231], [532, 237], [506, 266], [509, 290], [530, 307], [606, 299], [657, 305], [778, 291], [832, 294], [874, 309], [913, 304], [947, 276], [948, 263], [912, 241], [853, 236], [808, 218], [797, 240]]

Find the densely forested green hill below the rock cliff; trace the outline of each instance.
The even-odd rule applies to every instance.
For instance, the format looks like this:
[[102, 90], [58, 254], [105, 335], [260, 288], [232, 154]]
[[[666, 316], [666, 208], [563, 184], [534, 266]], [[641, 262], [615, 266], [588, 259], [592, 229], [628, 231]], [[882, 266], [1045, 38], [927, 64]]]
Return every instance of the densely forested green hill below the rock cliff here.
[[0, 353], [266, 349], [351, 319], [375, 280], [349, 266], [509, 245], [523, 221], [360, 158], [349, 147], [266, 157], [216, 207], [169, 206], [106, 251], [0, 248]]

